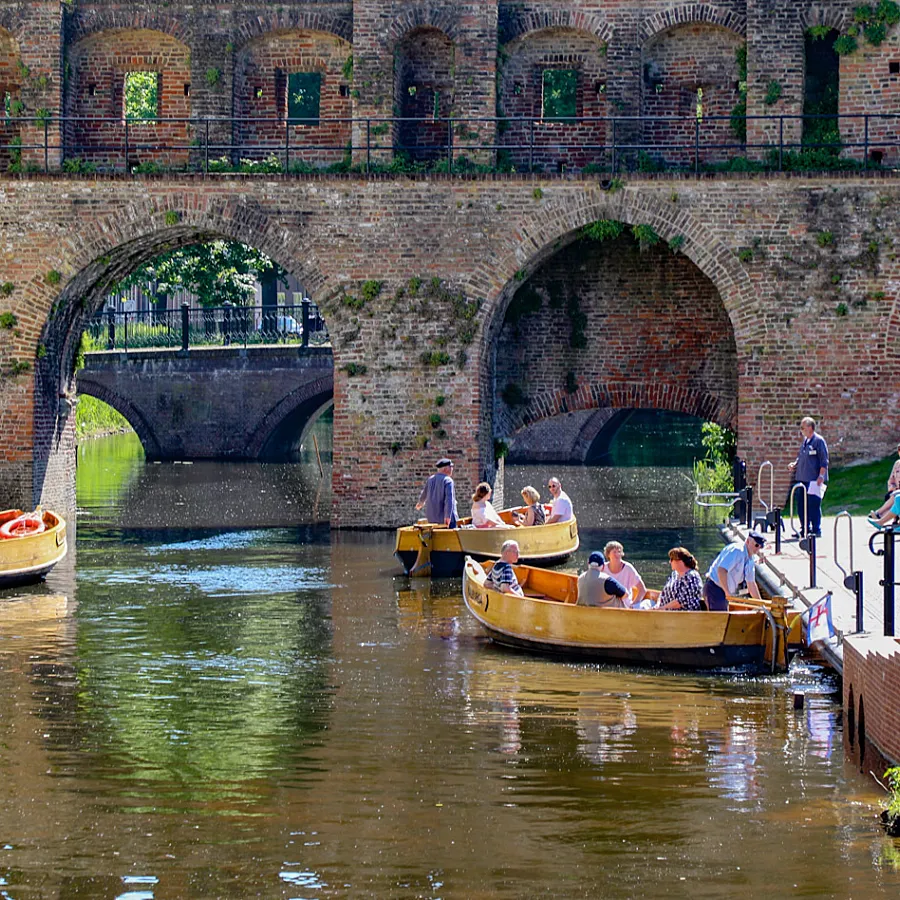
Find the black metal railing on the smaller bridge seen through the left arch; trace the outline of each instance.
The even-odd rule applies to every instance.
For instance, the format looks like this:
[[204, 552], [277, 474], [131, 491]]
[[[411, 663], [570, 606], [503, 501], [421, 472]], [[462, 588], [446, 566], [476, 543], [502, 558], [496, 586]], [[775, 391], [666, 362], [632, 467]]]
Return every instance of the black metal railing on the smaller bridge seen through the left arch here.
[[224, 306], [192, 309], [149, 309], [116, 312], [107, 309], [91, 318], [85, 328], [87, 350], [142, 350], [191, 347], [247, 347], [296, 344], [325, 346], [328, 330], [318, 307]]

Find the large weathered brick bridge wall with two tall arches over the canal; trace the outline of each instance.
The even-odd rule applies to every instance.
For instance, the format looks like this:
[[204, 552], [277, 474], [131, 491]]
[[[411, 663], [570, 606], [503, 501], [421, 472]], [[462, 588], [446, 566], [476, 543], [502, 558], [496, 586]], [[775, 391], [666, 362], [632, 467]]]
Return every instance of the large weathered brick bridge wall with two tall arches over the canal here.
[[[437, 455], [592, 408], [734, 425], [779, 473], [797, 420], [838, 461], [900, 431], [900, 180], [0, 178], [0, 496], [72, 500], [74, 359], [109, 284], [226, 237], [308, 285], [334, 352], [336, 526], [389, 524]], [[626, 228], [597, 242], [597, 220]], [[641, 234], [643, 232], [638, 232]], [[677, 252], [674, 252], [674, 247]]]

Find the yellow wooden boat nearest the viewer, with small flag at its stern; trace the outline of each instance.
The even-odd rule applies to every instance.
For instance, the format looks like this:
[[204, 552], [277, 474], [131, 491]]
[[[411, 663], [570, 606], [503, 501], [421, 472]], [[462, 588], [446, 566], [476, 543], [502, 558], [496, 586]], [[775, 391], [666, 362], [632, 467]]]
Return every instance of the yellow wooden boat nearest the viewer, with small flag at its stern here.
[[[789, 615], [782, 598], [729, 598], [727, 612], [576, 606], [578, 577], [516, 566], [525, 597], [485, 586], [486, 571], [466, 560], [463, 597], [492, 640], [509, 647], [608, 662], [691, 669], [784, 670]], [[649, 592], [658, 597], [658, 591]]]

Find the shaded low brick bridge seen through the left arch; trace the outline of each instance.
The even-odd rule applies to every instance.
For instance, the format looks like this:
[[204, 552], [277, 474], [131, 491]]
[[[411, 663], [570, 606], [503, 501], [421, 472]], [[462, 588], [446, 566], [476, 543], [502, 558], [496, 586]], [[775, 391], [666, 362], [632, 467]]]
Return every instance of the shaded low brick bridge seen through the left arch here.
[[89, 353], [78, 393], [117, 409], [149, 459], [278, 458], [331, 405], [331, 351], [249, 347]]

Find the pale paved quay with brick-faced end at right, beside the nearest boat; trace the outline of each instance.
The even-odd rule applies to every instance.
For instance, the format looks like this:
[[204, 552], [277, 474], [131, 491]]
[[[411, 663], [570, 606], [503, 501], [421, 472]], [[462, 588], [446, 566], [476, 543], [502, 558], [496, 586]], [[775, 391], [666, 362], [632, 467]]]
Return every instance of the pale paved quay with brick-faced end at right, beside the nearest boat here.
[[[869, 548], [875, 529], [865, 516], [823, 517], [822, 537], [816, 541], [816, 586], [811, 587], [809, 554], [800, 549], [789, 523], [785, 528], [780, 553], [775, 553], [774, 535], [769, 532], [757, 577], [767, 590], [792, 597], [794, 605], [801, 608], [810, 607], [831, 591], [836, 635], [821, 645], [821, 651], [843, 679], [845, 745], [861, 768], [870, 764], [872, 750], [898, 765], [900, 640], [884, 634], [884, 589], [880, 583], [884, 557], [874, 555]], [[723, 527], [723, 534], [729, 541], [743, 541], [749, 530], [730, 523]], [[897, 541], [900, 550], [900, 534]], [[882, 546], [882, 539], [876, 538], [875, 549]], [[897, 568], [895, 580], [900, 580], [900, 566]], [[853, 570], [863, 574], [862, 630], [857, 628], [856, 595], [844, 587], [845, 574]]]

